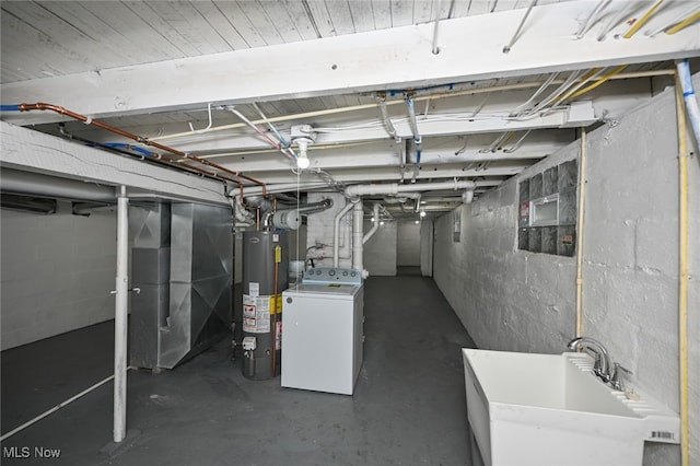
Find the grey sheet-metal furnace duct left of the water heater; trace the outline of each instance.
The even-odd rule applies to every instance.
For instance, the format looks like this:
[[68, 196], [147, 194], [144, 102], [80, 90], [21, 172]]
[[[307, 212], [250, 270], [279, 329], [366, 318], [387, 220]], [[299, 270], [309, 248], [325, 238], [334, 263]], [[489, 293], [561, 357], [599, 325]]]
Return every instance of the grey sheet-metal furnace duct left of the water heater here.
[[231, 210], [153, 202], [132, 208], [130, 363], [173, 369], [231, 327]]

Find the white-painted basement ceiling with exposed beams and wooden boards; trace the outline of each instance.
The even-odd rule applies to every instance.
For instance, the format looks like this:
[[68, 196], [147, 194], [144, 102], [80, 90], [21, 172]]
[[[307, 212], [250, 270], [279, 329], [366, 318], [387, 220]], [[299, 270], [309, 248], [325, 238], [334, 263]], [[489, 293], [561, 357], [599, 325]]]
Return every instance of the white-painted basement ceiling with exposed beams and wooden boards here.
[[[143, 139], [52, 112], [2, 119], [161, 153], [145, 143], [156, 142], [271, 187], [457, 178], [477, 182], [478, 196], [574, 141], [581, 128], [651, 97], [673, 82], [674, 59], [700, 56], [697, 21], [663, 32], [698, 11], [697, 1], [661, 2], [630, 38], [657, 2], [539, 0], [529, 10], [533, 3], [4, 0], [2, 104], [46, 102]], [[599, 85], [583, 92], [592, 83]], [[397, 137], [382, 119], [382, 96]], [[273, 140], [290, 141], [293, 126], [311, 125], [311, 170], [295, 173], [232, 110]]]

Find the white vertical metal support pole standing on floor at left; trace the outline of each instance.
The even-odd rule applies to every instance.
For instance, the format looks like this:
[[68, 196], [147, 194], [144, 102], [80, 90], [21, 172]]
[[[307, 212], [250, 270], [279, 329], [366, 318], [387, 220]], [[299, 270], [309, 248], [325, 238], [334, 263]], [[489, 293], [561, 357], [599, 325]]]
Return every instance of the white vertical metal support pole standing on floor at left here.
[[126, 438], [127, 317], [129, 294], [129, 198], [121, 186], [117, 200], [117, 277], [114, 318], [114, 441]]

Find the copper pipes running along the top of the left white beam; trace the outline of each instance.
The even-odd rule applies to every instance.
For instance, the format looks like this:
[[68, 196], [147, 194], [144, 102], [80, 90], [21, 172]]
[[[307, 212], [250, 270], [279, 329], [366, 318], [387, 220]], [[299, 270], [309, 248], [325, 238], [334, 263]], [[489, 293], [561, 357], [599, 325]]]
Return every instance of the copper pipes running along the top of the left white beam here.
[[[236, 178], [248, 180], [248, 182], [254, 183], [254, 184], [256, 184], [258, 186], [261, 186], [262, 187], [262, 196], [265, 196], [265, 197], [268, 196], [267, 186], [265, 185], [265, 183], [262, 183], [262, 182], [260, 182], [258, 179], [255, 179], [255, 178], [252, 178], [249, 176], [243, 175], [240, 172], [234, 172], [234, 171], [229, 170], [229, 168], [226, 168], [224, 166], [221, 166], [219, 164], [210, 162], [210, 161], [208, 161], [206, 159], [200, 159], [200, 158], [198, 158], [196, 155], [190, 155], [190, 154], [185, 153], [183, 151], [178, 151], [177, 149], [173, 149], [173, 148], [170, 148], [167, 145], [163, 145], [163, 144], [161, 144], [159, 142], [150, 141], [150, 140], [148, 140], [148, 138], [143, 138], [143, 137], [138, 136], [138, 135], [133, 135], [133, 133], [131, 133], [129, 131], [125, 131], [122, 129], [116, 128], [116, 127], [107, 125], [105, 123], [93, 120], [92, 118], [89, 118], [89, 117], [86, 117], [84, 115], [77, 114], [74, 112], [71, 112], [71, 110], [69, 110], [67, 108], [60, 107], [58, 105], [44, 104], [44, 103], [39, 102], [39, 103], [36, 103], [36, 104], [20, 104], [19, 108], [20, 108], [20, 112], [51, 110], [51, 112], [56, 112], [57, 114], [66, 115], [68, 117], [71, 117], [73, 119], [82, 121], [85, 125], [95, 126], [97, 128], [101, 128], [101, 129], [104, 129], [106, 131], [114, 132], [115, 135], [121, 136], [122, 138], [131, 139], [133, 141], [140, 142], [142, 144], [151, 145], [151, 147], [160, 149], [160, 150], [162, 150], [164, 152], [170, 152], [170, 153], [172, 153], [174, 155], [180, 156], [183, 159], [192, 160], [192, 161], [198, 162], [198, 163], [200, 163], [202, 165], [211, 166], [212, 168], [215, 168], [215, 170], [219, 170], [221, 172], [228, 173], [228, 174], [230, 174], [230, 175], [232, 175], [232, 176], [234, 176]], [[158, 155], [154, 155], [154, 156], [156, 159], [166, 160], [166, 161], [168, 161], [171, 163], [173, 162], [173, 159], [166, 159], [161, 154], [158, 154]], [[226, 179], [229, 182], [233, 182], [233, 183], [238, 184], [241, 187], [243, 186], [240, 182], [237, 182], [235, 179], [231, 179], [229, 177], [221, 176], [215, 172], [210, 172], [210, 171], [196, 168], [196, 167], [191, 167], [191, 166], [190, 166], [190, 168], [196, 170], [197, 172], [203, 173], [206, 175], [212, 176], [214, 178]]]

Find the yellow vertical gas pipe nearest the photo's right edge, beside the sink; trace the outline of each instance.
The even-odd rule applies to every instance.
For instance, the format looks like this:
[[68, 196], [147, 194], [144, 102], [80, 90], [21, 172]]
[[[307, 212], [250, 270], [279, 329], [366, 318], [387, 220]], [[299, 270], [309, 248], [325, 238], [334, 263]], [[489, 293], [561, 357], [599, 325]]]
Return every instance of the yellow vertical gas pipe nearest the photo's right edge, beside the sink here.
[[690, 428], [688, 424], [688, 133], [686, 112], [676, 74], [676, 112], [678, 114], [678, 346], [680, 365], [680, 459], [690, 465]]

